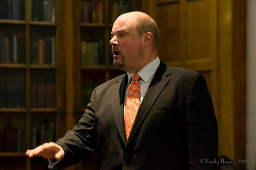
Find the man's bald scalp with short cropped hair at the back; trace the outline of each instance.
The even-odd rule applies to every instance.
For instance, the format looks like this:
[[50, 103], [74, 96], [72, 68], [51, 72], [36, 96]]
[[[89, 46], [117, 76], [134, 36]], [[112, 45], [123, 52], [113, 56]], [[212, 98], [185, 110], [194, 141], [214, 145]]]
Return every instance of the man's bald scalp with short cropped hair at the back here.
[[135, 27], [140, 37], [144, 33], [152, 33], [153, 45], [158, 49], [159, 30], [156, 22], [150, 16], [140, 11], [133, 11], [120, 15], [115, 22], [119, 22], [120, 20], [125, 22], [125, 24]]

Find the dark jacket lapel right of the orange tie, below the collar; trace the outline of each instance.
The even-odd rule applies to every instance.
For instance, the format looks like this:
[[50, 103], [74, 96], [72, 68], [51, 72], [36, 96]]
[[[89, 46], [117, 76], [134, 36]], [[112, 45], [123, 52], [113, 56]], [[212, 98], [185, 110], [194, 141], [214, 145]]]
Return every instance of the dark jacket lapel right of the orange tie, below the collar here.
[[148, 112], [154, 105], [154, 102], [160, 95], [161, 91], [165, 88], [166, 84], [169, 82], [168, 75], [171, 74], [171, 70], [169, 67], [161, 61], [160, 66], [158, 67], [150, 86], [143, 98], [139, 106], [139, 110], [137, 112], [134, 124], [132, 126], [132, 130], [130, 136], [128, 138], [127, 144], [132, 140], [132, 137], [135, 135], [136, 131], [139, 129], [141, 124], [143, 123], [145, 117], [147, 116]]

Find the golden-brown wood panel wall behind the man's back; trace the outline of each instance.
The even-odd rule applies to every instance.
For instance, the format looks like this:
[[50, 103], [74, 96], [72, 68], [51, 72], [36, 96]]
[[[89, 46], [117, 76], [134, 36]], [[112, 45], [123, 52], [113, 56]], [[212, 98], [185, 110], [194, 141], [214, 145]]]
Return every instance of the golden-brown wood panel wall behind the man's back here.
[[245, 159], [246, 0], [142, 0], [142, 11], [158, 24], [160, 59], [206, 78], [219, 155]]

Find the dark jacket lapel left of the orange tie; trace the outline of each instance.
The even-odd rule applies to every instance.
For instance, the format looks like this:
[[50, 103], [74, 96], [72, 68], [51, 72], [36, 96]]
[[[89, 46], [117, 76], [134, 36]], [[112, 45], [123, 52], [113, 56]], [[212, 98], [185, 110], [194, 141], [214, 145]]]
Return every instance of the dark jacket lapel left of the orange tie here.
[[118, 80], [117, 83], [112, 87], [112, 110], [115, 124], [124, 144], [126, 144], [127, 141], [124, 125], [124, 97], [127, 81], [128, 76], [125, 74], [123, 79], [121, 78]]

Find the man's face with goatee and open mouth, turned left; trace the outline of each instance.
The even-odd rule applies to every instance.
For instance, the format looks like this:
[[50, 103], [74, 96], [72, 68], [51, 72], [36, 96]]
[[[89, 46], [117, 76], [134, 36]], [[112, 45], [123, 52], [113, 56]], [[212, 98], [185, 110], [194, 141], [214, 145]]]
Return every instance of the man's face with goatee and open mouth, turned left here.
[[143, 48], [135, 27], [135, 20], [120, 16], [113, 24], [109, 42], [112, 46], [114, 65], [128, 72], [136, 70]]

